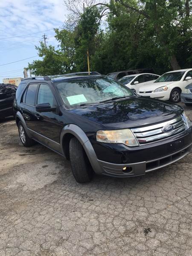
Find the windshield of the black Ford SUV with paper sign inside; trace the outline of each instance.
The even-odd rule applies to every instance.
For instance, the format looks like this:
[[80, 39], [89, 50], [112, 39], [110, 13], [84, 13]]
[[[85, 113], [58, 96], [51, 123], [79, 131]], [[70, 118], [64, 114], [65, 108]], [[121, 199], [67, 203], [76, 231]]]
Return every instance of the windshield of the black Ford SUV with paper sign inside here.
[[135, 96], [132, 90], [108, 77], [73, 79], [55, 84], [64, 104], [69, 107]]

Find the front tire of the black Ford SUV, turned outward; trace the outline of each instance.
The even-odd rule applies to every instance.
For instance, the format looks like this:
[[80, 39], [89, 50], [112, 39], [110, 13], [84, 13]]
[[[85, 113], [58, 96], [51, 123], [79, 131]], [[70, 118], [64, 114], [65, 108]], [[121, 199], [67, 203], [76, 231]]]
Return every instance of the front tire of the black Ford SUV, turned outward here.
[[70, 140], [69, 151], [71, 168], [76, 181], [78, 183], [91, 181], [93, 169], [81, 143], [75, 137]]

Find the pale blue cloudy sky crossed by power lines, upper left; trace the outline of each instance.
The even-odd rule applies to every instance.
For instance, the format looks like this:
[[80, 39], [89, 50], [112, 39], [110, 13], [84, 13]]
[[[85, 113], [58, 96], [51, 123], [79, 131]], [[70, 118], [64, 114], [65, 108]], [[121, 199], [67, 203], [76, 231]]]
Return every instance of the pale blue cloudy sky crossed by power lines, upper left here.
[[[61, 28], [68, 14], [63, 0], [0, 0], [0, 82], [3, 78], [23, 77], [23, 67], [38, 57], [7, 64], [37, 55], [45, 33], [48, 44], [56, 45], [53, 28]], [[33, 35], [15, 37], [18, 35]]]

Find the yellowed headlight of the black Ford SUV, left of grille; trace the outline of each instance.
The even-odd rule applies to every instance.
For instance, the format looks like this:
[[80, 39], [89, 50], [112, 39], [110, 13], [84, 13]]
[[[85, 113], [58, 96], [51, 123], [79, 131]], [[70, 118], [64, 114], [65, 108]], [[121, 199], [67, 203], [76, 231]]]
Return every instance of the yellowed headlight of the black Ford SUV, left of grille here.
[[129, 147], [139, 145], [130, 129], [97, 131], [96, 140], [103, 143], [122, 143]]

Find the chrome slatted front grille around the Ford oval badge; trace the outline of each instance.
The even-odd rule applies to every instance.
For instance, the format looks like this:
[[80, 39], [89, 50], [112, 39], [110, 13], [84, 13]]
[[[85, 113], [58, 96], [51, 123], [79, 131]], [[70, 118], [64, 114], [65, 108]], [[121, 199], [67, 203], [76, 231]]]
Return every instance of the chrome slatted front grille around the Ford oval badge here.
[[[173, 125], [173, 130], [166, 133], [163, 132], [162, 128], [166, 125]], [[131, 129], [140, 145], [163, 140], [167, 137], [179, 134], [184, 130], [186, 130], [186, 124], [182, 116], [178, 116], [175, 119], [167, 122], [162, 122], [160, 124]]]

